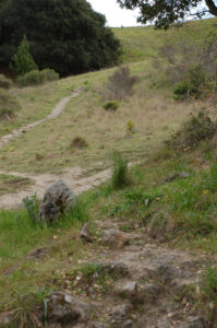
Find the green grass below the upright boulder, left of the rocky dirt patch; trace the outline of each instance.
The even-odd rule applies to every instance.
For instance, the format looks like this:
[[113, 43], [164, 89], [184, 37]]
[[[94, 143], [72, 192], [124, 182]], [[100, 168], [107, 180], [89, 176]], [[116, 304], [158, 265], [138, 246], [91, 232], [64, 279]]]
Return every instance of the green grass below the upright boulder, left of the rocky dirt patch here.
[[[80, 197], [76, 209], [68, 212], [64, 219], [52, 226], [34, 224], [26, 210], [1, 210], [1, 311], [15, 304], [14, 302], [25, 294], [34, 294], [41, 300], [46, 291], [55, 286], [53, 272], [61, 268], [64, 261], [71, 266], [70, 254], [72, 261], [76, 261], [77, 255], [83, 254], [85, 246], [81, 244], [77, 249], [76, 236], [81, 225], [89, 220], [89, 202], [88, 194]], [[35, 260], [27, 258], [27, 255], [40, 247], [47, 249], [45, 259], [38, 261], [37, 258]]]

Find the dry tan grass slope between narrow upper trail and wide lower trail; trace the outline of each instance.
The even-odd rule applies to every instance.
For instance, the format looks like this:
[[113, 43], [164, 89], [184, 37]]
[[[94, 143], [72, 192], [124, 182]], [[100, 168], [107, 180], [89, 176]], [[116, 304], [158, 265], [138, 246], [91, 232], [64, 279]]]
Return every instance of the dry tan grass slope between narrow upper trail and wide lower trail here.
[[[157, 149], [172, 129], [177, 129], [190, 113], [197, 113], [204, 105], [201, 102], [177, 103], [169, 91], [148, 89], [144, 77], [148, 63], [132, 65], [132, 73], [140, 73], [135, 93], [120, 103], [117, 113], [101, 108], [99, 91], [112, 70], [88, 73], [61, 80], [64, 85], [85, 84], [85, 91], [73, 98], [57, 118], [13, 140], [0, 151], [2, 169], [19, 172], [60, 172], [69, 166], [101, 168], [108, 166], [111, 151], [126, 154], [129, 160], [141, 160]], [[135, 125], [136, 132], [126, 138], [129, 120]], [[82, 136], [88, 149], [70, 150], [70, 140]], [[43, 153], [40, 165], [35, 160]], [[14, 161], [16, 159], [16, 161]]]

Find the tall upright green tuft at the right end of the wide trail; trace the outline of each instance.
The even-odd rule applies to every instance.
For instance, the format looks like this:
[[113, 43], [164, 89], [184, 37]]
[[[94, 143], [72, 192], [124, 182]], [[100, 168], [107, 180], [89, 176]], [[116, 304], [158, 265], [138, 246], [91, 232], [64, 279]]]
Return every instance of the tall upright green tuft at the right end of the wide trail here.
[[119, 152], [113, 153], [111, 186], [113, 189], [121, 189], [130, 184], [128, 162]]

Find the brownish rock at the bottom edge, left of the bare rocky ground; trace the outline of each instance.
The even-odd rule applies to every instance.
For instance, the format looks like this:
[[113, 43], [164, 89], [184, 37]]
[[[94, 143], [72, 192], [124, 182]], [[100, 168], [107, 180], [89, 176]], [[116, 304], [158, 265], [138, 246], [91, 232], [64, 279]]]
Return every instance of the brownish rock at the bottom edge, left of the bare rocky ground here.
[[91, 306], [63, 292], [55, 292], [48, 300], [48, 315], [51, 323], [86, 323], [91, 316]]

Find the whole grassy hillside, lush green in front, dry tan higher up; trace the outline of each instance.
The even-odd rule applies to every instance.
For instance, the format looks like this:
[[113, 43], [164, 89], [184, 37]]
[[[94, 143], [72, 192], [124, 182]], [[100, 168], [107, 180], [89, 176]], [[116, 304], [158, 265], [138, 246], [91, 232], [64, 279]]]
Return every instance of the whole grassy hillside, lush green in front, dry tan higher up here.
[[[217, 303], [215, 104], [209, 97], [177, 102], [171, 87], [153, 83], [152, 60], [165, 42], [176, 44], [186, 38], [193, 44], [204, 43], [215, 32], [215, 19], [189, 22], [182, 28], [167, 32], [153, 27], [114, 28], [123, 45], [123, 61], [131, 74], [137, 77], [132, 95], [119, 102], [117, 112], [105, 110], [101, 97], [105, 83], [117, 68], [69, 77], [43, 86], [10, 90], [21, 109], [14, 119], [0, 122], [1, 137], [47, 117], [61, 98], [82, 87], [81, 94], [67, 104], [59, 117], [41, 122], [0, 149], [0, 197], [34, 184], [17, 178], [15, 172], [59, 174], [67, 167], [81, 166], [92, 175], [111, 166], [114, 150], [133, 166], [126, 172], [128, 179], [123, 177], [122, 188], [116, 188], [109, 180], [81, 195], [76, 209], [53, 225], [35, 223], [39, 204], [36, 198], [26, 209], [0, 210], [0, 323], [1, 313], [5, 316], [12, 311], [14, 315], [12, 326], [5, 327], [41, 327], [41, 318], [46, 325], [47, 297], [56, 290], [63, 290], [85, 302], [94, 300], [92, 320], [106, 323], [106, 328], [117, 328], [116, 324], [107, 325], [109, 316], [105, 315], [111, 304], [123, 303], [123, 294], [119, 297], [113, 290], [117, 278], [108, 274], [97, 280], [97, 284], [92, 281], [92, 274], [95, 271], [98, 274], [93, 262], [105, 261], [108, 256], [113, 260], [125, 251], [101, 245], [104, 231], [113, 226], [130, 234], [125, 262], [131, 269], [143, 261], [138, 257], [136, 262], [135, 249], [141, 256], [143, 250], [165, 247], [162, 255], [156, 255], [156, 262], [167, 254], [173, 262], [174, 248], [180, 257], [185, 250], [183, 265], [189, 266], [189, 271], [195, 265], [189, 260], [192, 251], [195, 258], [200, 257], [193, 281], [184, 280], [186, 285], [181, 286], [182, 296], [166, 289], [164, 302], [169, 302], [169, 314], [172, 307], [176, 316], [177, 311], [183, 309], [186, 316], [200, 314], [210, 321]], [[201, 110], [208, 113], [213, 122], [205, 116], [200, 125]], [[183, 125], [184, 121], [190, 124]], [[129, 125], [133, 126], [130, 133]], [[180, 128], [176, 147], [171, 147], [174, 141], [171, 136]], [[73, 147], [76, 137], [83, 138], [87, 147]], [[166, 140], [170, 140], [170, 147]], [[89, 224], [92, 244], [80, 238], [84, 222]], [[149, 258], [148, 251], [146, 257]], [[209, 270], [210, 263], [214, 271]], [[94, 288], [95, 298], [80, 273]], [[197, 273], [202, 280], [200, 285], [195, 279]], [[140, 277], [138, 282], [146, 283], [145, 279]], [[208, 289], [202, 288], [204, 283]], [[159, 308], [161, 314], [166, 312]], [[146, 327], [138, 324], [144, 314], [155, 317], [146, 311], [146, 304], [131, 308], [129, 317], [135, 327]], [[178, 318], [183, 316], [179, 314]]]

